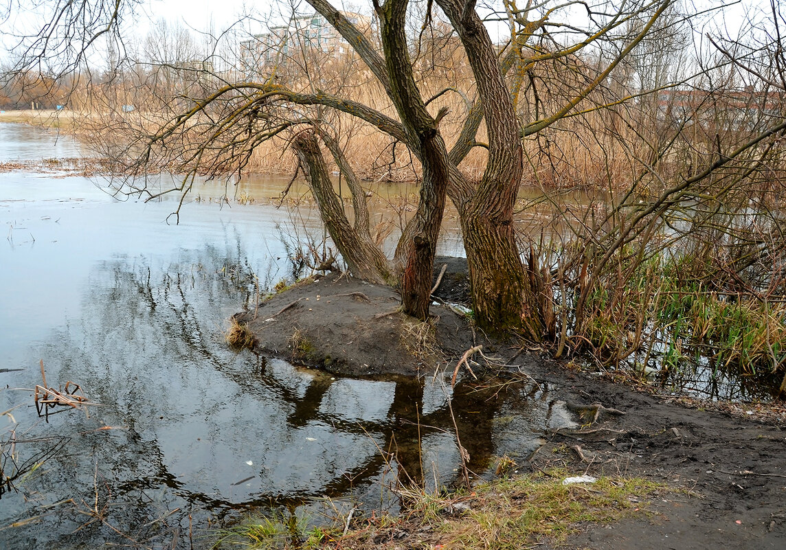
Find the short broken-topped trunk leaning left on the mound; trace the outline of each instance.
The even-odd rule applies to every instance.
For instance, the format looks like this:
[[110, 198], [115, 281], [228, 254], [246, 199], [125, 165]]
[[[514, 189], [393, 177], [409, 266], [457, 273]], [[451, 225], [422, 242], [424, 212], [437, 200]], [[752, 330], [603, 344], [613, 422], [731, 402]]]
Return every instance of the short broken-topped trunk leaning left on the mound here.
[[292, 148], [306, 174], [322, 222], [344, 262], [347, 262], [349, 272], [365, 281], [389, 283], [390, 265], [382, 251], [370, 238], [356, 231], [344, 215], [314, 132], [305, 130], [297, 134], [292, 140]]

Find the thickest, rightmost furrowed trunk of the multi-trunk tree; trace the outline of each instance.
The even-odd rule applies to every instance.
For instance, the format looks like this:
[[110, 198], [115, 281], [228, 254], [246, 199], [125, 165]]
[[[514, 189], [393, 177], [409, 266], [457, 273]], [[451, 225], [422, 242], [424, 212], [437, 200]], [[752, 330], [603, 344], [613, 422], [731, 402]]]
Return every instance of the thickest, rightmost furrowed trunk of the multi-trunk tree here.
[[[513, 231], [513, 206], [523, 173], [523, 147], [512, 97], [497, 51], [475, 13], [474, 2], [436, 2], [464, 44], [483, 102], [489, 139], [489, 159], [477, 189], [472, 196], [451, 196], [461, 218], [472, 283], [472, 310], [478, 325], [487, 331], [526, 328], [528, 336], [539, 339], [540, 316], [537, 307], [532, 306], [536, 300]], [[472, 115], [478, 116], [479, 112]], [[464, 141], [468, 141], [468, 136], [462, 138]], [[465, 152], [457, 150], [454, 159], [461, 159], [462, 154]]]

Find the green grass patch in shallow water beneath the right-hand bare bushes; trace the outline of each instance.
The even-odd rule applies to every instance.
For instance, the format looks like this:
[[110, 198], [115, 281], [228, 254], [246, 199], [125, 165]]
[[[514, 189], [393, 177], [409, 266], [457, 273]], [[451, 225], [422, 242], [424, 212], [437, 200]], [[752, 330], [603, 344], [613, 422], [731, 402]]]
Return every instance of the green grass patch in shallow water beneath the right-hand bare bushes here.
[[696, 261], [689, 270], [686, 262], [656, 257], [597, 281], [575, 327], [578, 350], [618, 367], [649, 350], [665, 370], [700, 358], [739, 376], [782, 370], [786, 304], [722, 292], [707, 282], [712, 266]]

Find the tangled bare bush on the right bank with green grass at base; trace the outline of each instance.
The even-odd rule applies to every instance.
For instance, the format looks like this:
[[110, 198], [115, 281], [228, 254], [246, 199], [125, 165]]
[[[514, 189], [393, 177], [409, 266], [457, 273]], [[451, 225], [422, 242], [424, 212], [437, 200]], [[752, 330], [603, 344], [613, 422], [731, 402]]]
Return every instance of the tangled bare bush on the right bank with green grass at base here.
[[[779, 17], [773, 6], [770, 20]], [[695, 87], [652, 94], [657, 132], [630, 123], [643, 101], [606, 111], [636, 130], [615, 137], [636, 177], [574, 216], [563, 243], [533, 246], [557, 355], [589, 352], [639, 372], [708, 361], [783, 376], [786, 126], [783, 90], [772, 86], [782, 54], [718, 42], [714, 70]]]

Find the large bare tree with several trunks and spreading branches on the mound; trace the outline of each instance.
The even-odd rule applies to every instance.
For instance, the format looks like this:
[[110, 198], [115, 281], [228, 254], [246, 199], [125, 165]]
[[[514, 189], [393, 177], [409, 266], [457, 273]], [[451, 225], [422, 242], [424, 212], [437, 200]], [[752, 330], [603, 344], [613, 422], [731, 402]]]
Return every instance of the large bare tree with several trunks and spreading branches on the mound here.
[[[349, 270], [370, 281], [400, 284], [403, 310], [421, 319], [428, 316], [436, 241], [449, 199], [461, 226], [478, 325], [494, 332], [516, 329], [536, 340], [553, 333], [553, 317], [542, 307], [541, 270], [536, 259], [523, 259], [513, 223], [524, 173], [523, 141], [538, 138], [569, 117], [605, 108], [597, 90], [611, 86], [612, 76], [626, 68], [623, 62], [642, 41], [653, 33], [663, 34], [659, 22], [664, 16], [679, 20], [678, 2], [526, 0], [519, 6], [503, 0], [480, 8], [472, 0], [374, 0], [370, 7], [376, 24], [372, 25], [351, 21], [327, 0], [306, 2], [354, 51], [353, 59], [359, 63], [347, 62], [343, 67], [370, 75], [369, 87], [380, 90], [387, 105], [380, 108], [379, 101], [358, 99], [358, 86], [333, 86], [314, 78], [319, 70], [337, 66], [335, 58], [310, 49], [308, 41], [289, 43], [288, 58], [299, 63], [292, 73], [295, 78], [283, 78], [281, 65], [264, 78], [259, 71], [251, 79], [232, 72], [200, 78], [199, 86], [171, 102], [178, 109], [171, 115], [140, 109], [135, 118], [121, 121], [127, 126], [117, 130], [129, 134], [119, 140], [119, 132], [113, 132], [115, 156], [130, 159], [132, 175], [134, 168], [147, 173], [151, 166], [165, 166], [189, 177], [218, 177], [241, 172], [260, 144], [286, 137]], [[57, 6], [61, 16], [75, 13], [72, 3]], [[113, 11], [101, 7], [100, 0], [83, 0], [79, 6], [90, 15], [86, 20], [93, 35], [116, 36], [113, 25], [126, 5], [120, 2], [119, 10]], [[443, 43], [458, 45], [457, 54], [435, 52], [433, 44], [424, 47], [424, 36], [435, 28]], [[505, 39], [492, 40], [490, 28], [505, 29]], [[50, 42], [46, 35], [39, 38], [27, 49], [33, 61], [48, 54]], [[76, 41], [82, 46], [89, 42]], [[35, 44], [44, 49], [36, 49]], [[297, 59], [292, 54], [296, 46]], [[424, 52], [430, 57], [424, 57]], [[275, 53], [280, 60], [284, 46]], [[83, 59], [81, 53], [78, 57]], [[434, 73], [442, 70], [438, 63], [450, 63], [451, 72], [465, 63], [472, 82], [464, 89], [428, 90], [417, 71], [430, 62]], [[179, 70], [209, 72], [210, 67]], [[462, 97], [462, 112], [434, 106], [446, 94]], [[609, 102], [624, 101], [635, 100], [623, 90]], [[458, 130], [446, 135], [448, 117]], [[417, 159], [421, 181], [417, 211], [402, 229], [392, 258], [372, 237], [365, 190], [342, 149], [340, 121], [348, 118], [406, 146]], [[462, 162], [477, 157], [478, 150], [483, 151], [483, 168], [470, 176], [462, 170]], [[349, 185], [351, 216], [333, 189], [325, 152]], [[140, 181], [144, 179], [129, 179], [126, 190], [149, 196], [160, 192], [146, 189]], [[184, 178], [175, 190], [185, 196], [192, 185], [193, 178]], [[630, 229], [619, 242], [626, 242]]]

